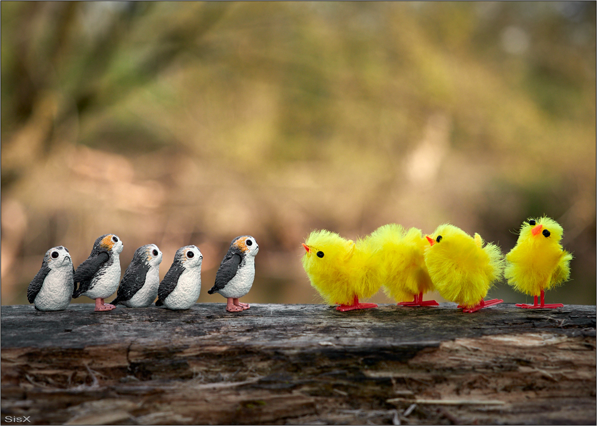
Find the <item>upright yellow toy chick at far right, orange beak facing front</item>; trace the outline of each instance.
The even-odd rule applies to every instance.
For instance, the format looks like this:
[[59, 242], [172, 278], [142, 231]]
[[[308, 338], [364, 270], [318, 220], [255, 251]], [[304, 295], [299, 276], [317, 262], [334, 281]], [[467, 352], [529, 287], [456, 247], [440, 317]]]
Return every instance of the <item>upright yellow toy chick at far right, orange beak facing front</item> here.
[[[516, 246], [506, 255], [504, 276], [516, 290], [535, 297], [534, 304], [521, 308], [561, 308], [561, 303], [545, 304], [545, 290], [570, 279], [572, 255], [562, 248], [564, 230], [548, 217], [522, 224]], [[541, 295], [538, 303], [537, 296]]]

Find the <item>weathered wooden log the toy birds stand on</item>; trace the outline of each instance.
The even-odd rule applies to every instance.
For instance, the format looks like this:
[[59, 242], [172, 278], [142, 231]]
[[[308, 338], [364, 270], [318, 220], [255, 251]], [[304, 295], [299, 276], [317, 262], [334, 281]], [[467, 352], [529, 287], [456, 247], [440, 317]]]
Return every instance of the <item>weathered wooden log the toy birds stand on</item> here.
[[594, 424], [595, 306], [2, 306], [2, 424]]

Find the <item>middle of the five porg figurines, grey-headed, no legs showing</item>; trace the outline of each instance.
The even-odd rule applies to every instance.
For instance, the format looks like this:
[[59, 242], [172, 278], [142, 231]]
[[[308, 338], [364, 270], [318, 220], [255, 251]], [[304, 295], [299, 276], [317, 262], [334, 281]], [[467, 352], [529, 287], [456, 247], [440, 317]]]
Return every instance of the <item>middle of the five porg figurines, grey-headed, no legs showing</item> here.
[[162, 252], [155, 244], [139, 247], [118, 287], [116, 298], [111, 305], [122, 304], [129, 308], [144, 308], [158, 297], [159, 264]]

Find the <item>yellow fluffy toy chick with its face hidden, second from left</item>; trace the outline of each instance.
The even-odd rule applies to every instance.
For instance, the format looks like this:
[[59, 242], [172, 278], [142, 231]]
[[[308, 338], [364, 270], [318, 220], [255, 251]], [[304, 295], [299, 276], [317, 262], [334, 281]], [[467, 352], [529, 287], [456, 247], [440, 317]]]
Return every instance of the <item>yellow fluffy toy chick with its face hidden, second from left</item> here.
[[407, 231], [390, 223], [373, 231], [370, 239], [379, 248], [379, 274], [388, 297], [402, 306], [438, 305], [435, 300], [423, 301], [423, 294], [433, 290], [433, 283], [423, 257], [429, 244], [420, 229]]

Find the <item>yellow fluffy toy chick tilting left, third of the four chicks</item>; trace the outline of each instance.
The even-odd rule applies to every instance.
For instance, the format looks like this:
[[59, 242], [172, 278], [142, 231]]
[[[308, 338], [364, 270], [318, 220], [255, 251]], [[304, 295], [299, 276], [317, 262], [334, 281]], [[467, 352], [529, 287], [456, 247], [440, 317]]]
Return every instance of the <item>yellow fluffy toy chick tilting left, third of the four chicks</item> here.
[[425, 251], [425, 264], [429, 276], [443, 298], [457, 302], [463, 312], [503, 302], [501, 299], [485, 301], [494, 281], [500, 279], [504, 261], [498, 246], [488, 243], [483, 247], [479, 234], [471, 237], [450, 224], [442, 224], [432, 237]]

